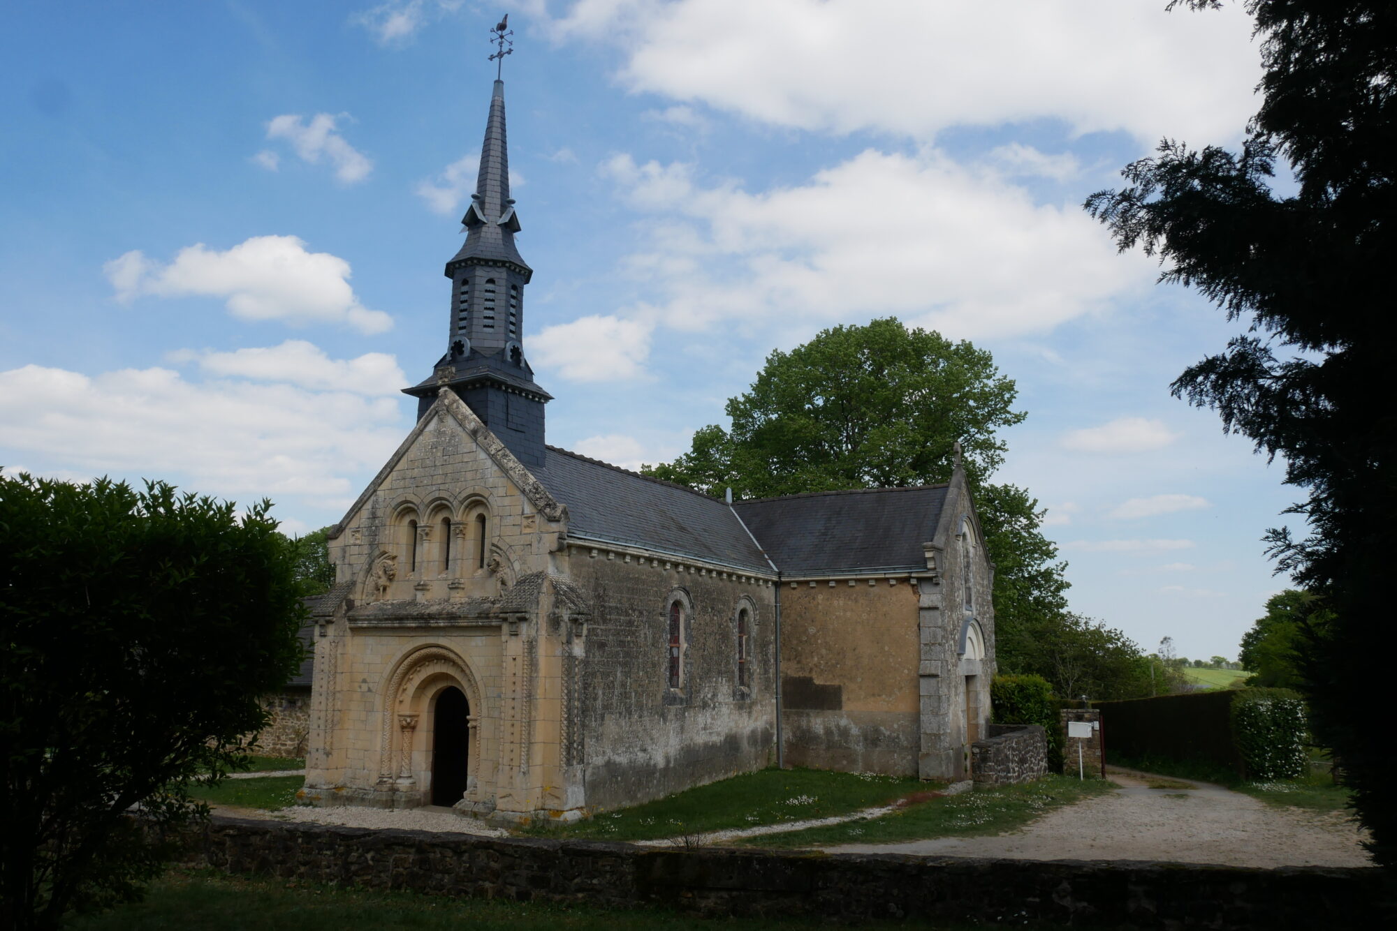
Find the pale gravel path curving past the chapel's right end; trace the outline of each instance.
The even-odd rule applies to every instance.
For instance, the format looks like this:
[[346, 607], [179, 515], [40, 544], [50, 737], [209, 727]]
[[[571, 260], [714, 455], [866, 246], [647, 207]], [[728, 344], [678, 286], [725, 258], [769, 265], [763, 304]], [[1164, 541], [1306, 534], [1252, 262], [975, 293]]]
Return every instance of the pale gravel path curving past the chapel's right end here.
[[828, 850], [1235, 867], [1372, 865], [1359, 846], [1362, 835], [1341, 812], [1275, 808], [1211, 783], [1192, 783], [1189, 790], [1148, 789], [1136, 773], [1112, 770], [1109, 776], [1119, 790], [1058, 808], [1014, 833]]

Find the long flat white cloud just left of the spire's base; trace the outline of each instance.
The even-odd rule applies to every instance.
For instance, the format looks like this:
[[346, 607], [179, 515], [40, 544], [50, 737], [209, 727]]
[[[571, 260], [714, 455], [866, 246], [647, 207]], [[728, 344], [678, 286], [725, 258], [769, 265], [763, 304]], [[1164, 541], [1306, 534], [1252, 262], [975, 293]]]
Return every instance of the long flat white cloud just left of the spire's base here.
[[194, 362], [211, 375], [282, 381], [316, 391], [351, 391], [359, 395], [395, 398], [408, 378], [394, 356], [369, 352], [355, 359], [331, 359], [305, 339], [288, 339], [279, 346], [214, 352], [182, 349], [172, 362]]

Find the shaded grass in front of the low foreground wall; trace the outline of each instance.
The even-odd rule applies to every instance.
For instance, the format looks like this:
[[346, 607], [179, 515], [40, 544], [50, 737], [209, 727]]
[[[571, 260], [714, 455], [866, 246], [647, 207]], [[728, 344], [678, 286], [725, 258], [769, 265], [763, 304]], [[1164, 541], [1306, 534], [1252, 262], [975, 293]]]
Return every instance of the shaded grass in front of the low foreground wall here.
[[[172, 872], [145, 902], [67, 923], [70, 931], [777, 931], [810, 920], [698, 918], [676, 911], [555, 906], [503, 899], [446, 899], [412, 892], [369, 892], [306, 882]], [[898, 924], [925, 931], [970, 931], [971, 924]], [[1018, 925], [1046, 927], [1046, 925]]]

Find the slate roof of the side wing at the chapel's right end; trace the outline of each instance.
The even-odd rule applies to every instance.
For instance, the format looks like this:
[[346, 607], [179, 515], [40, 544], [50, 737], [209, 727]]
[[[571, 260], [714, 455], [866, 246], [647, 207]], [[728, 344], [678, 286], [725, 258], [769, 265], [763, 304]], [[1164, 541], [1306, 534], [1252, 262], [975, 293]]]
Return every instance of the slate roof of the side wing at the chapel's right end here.
[[785, 575], [925, 569], [946, 484], [814, 491], [733, 507]]

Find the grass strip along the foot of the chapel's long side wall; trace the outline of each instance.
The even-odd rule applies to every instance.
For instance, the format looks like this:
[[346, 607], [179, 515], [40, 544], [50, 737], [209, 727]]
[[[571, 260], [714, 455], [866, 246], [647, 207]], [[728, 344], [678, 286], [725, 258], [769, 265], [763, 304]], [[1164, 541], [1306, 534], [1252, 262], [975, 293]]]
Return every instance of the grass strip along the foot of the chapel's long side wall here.
[[655, 840], [845, 815], [937, 787], [939, 783], [915, 777], [824, 769], [763, 769], [687, 789], [634, 808], [602, 811], [570, 825], [532, 825], [522, 833], [591, 840]]

